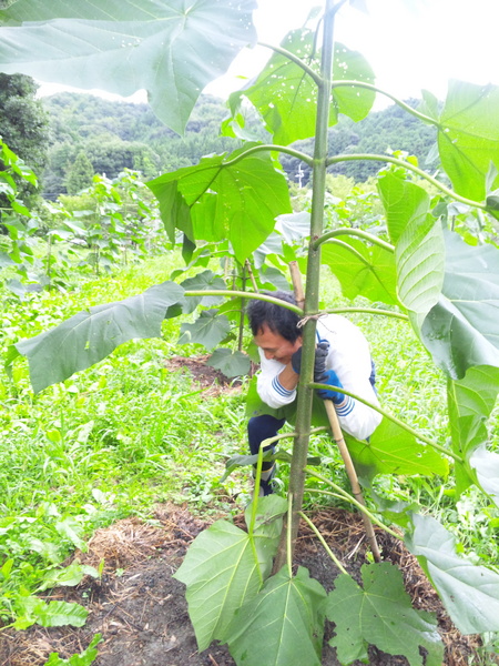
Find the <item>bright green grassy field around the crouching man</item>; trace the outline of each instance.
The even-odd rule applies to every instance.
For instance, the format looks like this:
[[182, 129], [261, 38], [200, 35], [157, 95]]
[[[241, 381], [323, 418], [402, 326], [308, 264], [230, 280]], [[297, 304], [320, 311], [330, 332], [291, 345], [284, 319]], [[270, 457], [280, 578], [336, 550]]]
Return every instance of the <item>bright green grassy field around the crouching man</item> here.
[[[172, 253], [71, 293], [32, 294], [21, 303], [3, 294], [2, 353], [84, 307], [166, 280], [180, 261]], [[342, 303], [330, 278], [323, 300], [328, 306]], [[384, 406], [446, 445], [445, 377], [409, 326], [380, 316], [352, 319], [371, 344]], [[24, 361], [16, 363], [12, 379], [0, 375], [0, 618], [11, 617], [19, 589], [38, 589], [99, 526], [129, 515], [149, 521], [154, 505], [165, 501], [203, 514], [236, 513], [249, 501], [247, 471], [220, 483], [225, 460], [246, 453], [245, 382], [241, 391], [213, 396], [189, 374], [169, 370], [169, 359], [206, 353], [200, 345], [176, 344], [180, 324], [166, 320], [161, 339], [122, 345], [39, 395], [30, 389]], [[496, 432], [497, 425], [496, 415]], [[313, 438], [312, 451], [324, 457], [323, 473], [344, 481], [326, 435]], [[284, 485], [286, 475], [283, 465]], [[456, 504], [442, 478], [381, 477], [377, 484], [393, 498], [420, 501], [473, 561], [497, 562], [499, 512], [475, 491]]]

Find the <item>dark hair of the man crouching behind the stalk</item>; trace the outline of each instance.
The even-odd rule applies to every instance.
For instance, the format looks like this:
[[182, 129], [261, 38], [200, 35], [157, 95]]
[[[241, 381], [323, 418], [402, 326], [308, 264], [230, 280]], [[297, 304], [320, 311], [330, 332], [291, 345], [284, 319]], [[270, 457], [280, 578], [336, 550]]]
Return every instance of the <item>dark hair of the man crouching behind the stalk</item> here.
[[[291, 292], [275, 291], [263, 293], [266, 296], [273, 296], [274, 299], [296, 305], [296, 300]], [[246, 312], [253, 335], [261, 333], [264, 325], [267, 325], [273, 333], [278, 333], [288, 342], [295, 342], [302, 336], [302, 331], [298, 329], [299, 316], [296, 312], [287, 307], [282, 307], [276, 303], [268, 303], [267, 301], [252, 300]]]

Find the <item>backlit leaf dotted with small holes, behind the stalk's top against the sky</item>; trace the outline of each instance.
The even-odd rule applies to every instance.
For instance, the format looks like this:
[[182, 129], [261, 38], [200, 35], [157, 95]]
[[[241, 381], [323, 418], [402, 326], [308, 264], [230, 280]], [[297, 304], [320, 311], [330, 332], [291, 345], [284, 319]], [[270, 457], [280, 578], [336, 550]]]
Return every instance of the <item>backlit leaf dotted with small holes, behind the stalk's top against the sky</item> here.
[[[320, 52], [316, 52], [315, 31], [294, 30], [281, 44], [284, 49], [306, 62], [316, 73], [319, 71]], [[333, 65], [335, 81], [354, 80], [374, 83], [374, 73], [364, 57], [336, 44]], [[299, 139], [315, 134], [317, 84], [299, 64], [282, 53], [274, 53], [256, 81], [231, 98], [233, 109], [238, 109], [246, 97], [259, 111], [274, 141], [288, 145]], [[329, 124], [337, 122], [338, 113], [353, 120], [365, 118], [375, 100], [370, 90], [342, 87], [333, 91]]]

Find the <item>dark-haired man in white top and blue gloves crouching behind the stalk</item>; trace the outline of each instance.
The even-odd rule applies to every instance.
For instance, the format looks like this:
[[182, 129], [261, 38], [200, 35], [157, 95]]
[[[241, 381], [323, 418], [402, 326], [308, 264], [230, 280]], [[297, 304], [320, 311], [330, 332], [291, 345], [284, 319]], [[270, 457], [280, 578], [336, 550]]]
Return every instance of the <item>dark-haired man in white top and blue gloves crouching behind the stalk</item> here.
[[[296, 304], [287, 292], [267, 292], [266, 295]], [[303, 340], [298, 315], [286, 307], [254, 300], [247, 306], [247, 315], [261, 357], [257, 392], [273, 412], [249, 418], [249, 450], [257, 454], [262, 442], [275, 437], [294, 412]], [[346, 389], [378, 405], [374, 364], [360, 330], [344, 316], [327, 314], [317, 320], [316, 337], [314, 381]], [[378, 412], [343, 393], [334, 390], [316, 393], [323, 400], [333, 401], [342, 428], [357, 440], [369, 437], [381, 421]], [[274, 475], [275, 464], [264, 462], [261, 495], [273, 492]]]

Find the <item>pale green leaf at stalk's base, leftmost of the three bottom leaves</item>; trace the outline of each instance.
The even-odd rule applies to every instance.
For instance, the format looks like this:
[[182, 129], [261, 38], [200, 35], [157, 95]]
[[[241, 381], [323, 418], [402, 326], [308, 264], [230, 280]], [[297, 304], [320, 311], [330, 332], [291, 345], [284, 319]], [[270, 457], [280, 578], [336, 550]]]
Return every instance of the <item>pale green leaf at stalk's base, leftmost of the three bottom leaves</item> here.
[[263, 497], [263, 516], [253, 536], [226, 521], [202, 532], [174, 577], [187, 586], [189, 613], [200, 650], [226, 628], [243, 603], [256, 596], [268, 576], [286, 511], [283, 497]]

